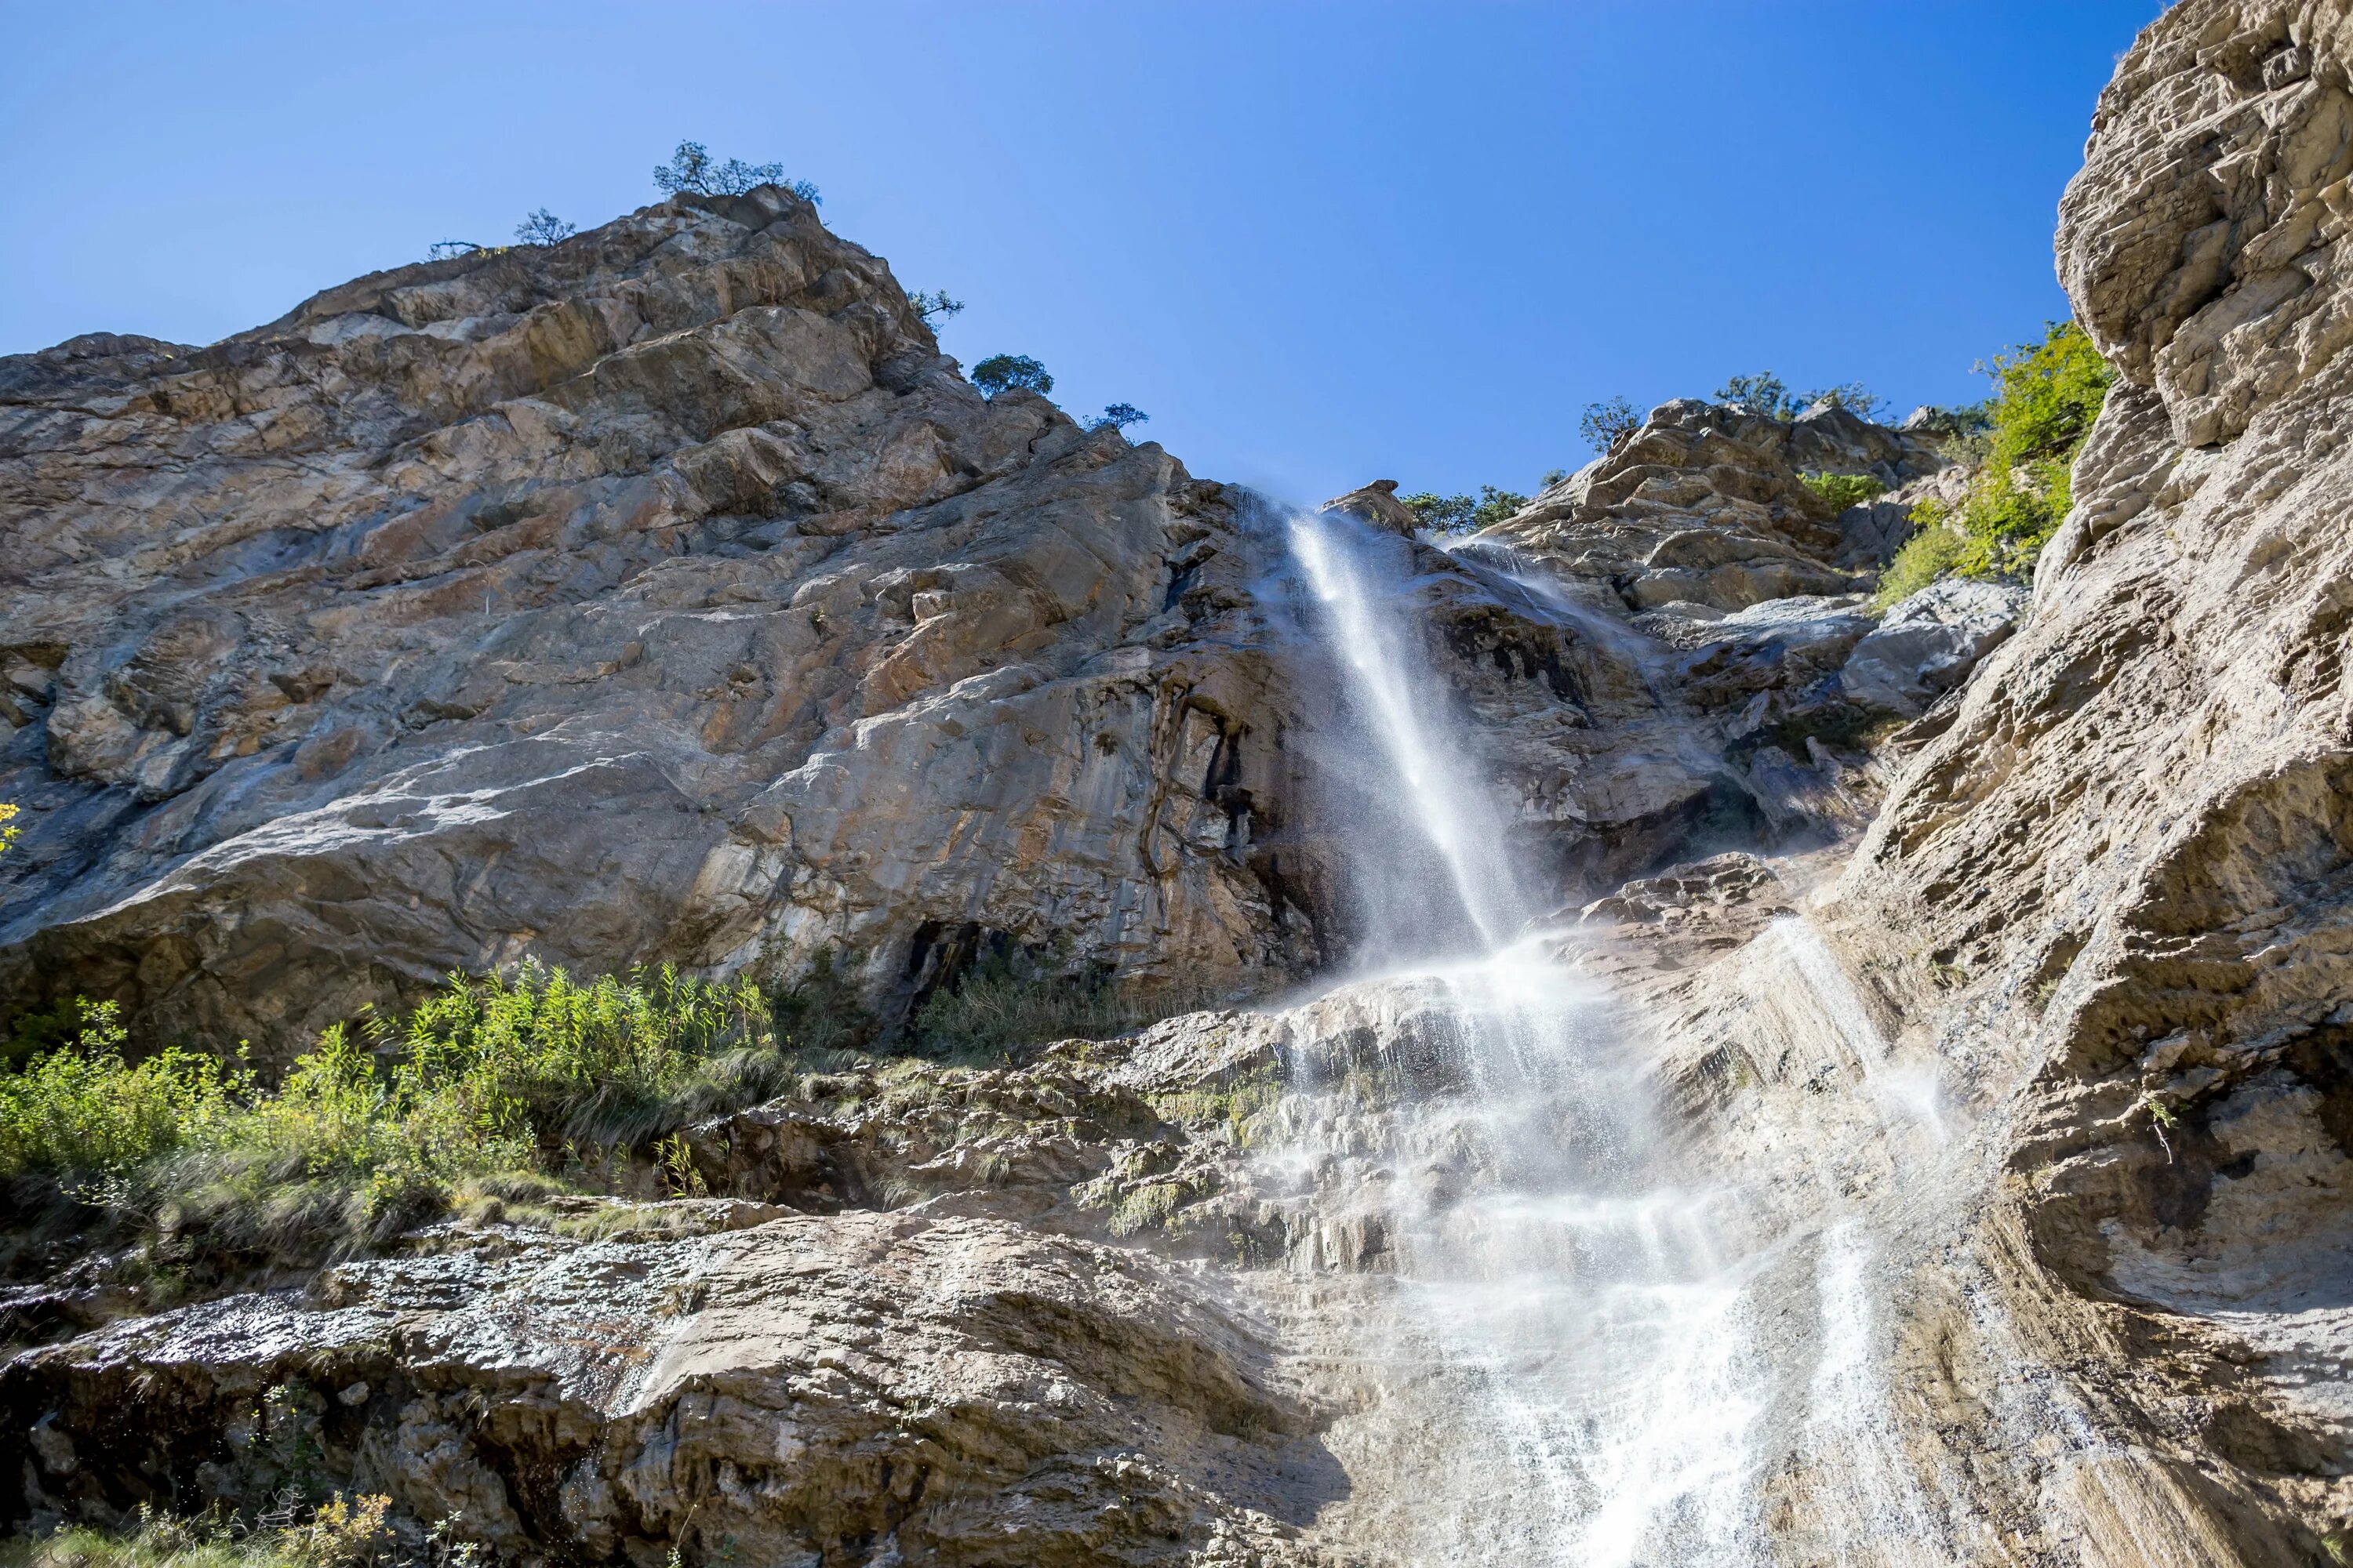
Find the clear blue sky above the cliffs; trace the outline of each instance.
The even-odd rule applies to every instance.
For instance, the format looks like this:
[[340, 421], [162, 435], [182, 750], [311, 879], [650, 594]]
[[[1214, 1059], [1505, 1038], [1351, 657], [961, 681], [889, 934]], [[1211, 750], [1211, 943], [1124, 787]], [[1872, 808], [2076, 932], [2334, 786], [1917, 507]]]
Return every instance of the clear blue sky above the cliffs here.
[[1195, 475], [1529, 489], [1612, 393], [1977, 397], [2066, 315], [2054, 205], [2158, 9], [5, 0], [0, 353], [600, 223], [694, 136]]

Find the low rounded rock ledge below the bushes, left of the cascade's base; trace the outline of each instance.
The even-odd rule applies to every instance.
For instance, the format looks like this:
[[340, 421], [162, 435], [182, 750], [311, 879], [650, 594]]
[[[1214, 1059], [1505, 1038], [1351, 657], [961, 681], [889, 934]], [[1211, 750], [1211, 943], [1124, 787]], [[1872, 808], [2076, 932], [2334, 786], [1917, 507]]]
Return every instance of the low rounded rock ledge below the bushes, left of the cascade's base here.
[[33, 1352], [0, 1401], [19, 1514], [325, 1472], [501, 1556], [1285, 1563], [1334, 1481], [1214, 1291], [974, 1218], [492, 1227]]

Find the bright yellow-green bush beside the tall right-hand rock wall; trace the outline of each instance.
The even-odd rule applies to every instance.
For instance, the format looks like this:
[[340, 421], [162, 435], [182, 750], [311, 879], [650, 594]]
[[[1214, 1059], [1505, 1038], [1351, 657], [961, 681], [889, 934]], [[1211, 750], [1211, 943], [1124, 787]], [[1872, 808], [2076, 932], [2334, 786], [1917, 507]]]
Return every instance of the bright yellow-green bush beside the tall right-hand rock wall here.
[[[1934, 503], [1913, 508], [1920, 534], [1880, 578], [1882, 602], [1892, 604], [1944, 571], [2026, 576], [2075, 503], [2068, 470], [2115, 381], [2092, 339], [2075, 322], [2057, 322], [2040, 341], [1995, 355], [1991, 369], [1979, 369], [1993, 376], [1984, 428], [1960, 428], [1948, 437], [1948, 451], [1977, 461], [1969, 494], [1953, 510]], [[1969, 414], [1977, 411], [1955, 411]]]

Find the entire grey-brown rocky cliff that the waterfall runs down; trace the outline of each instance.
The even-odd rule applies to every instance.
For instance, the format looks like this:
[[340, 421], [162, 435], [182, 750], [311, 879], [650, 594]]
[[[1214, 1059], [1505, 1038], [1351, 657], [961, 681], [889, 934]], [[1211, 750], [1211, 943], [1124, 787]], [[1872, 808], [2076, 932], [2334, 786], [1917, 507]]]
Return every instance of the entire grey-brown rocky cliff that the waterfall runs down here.
[[2122, 381], [2031, 597], [1875, 611], [1944, 458], [1835, 409], [1666, 404], [1471, 541], [1334, 501], [1555, 910], [1344, 983], [1447, 849], [1282, 508], [981, 400], [791, 195], [0, 362], [9, 1006], [1259, 992], [802, 1074], [685, 1128], [706, 1197], [181, 1305], [52, 1248], [0, 1502], [332, 1481], [645, 1568], [2344, 1561], [2348, 181], [2353, 7], [2120, 61], [2059, 268]]

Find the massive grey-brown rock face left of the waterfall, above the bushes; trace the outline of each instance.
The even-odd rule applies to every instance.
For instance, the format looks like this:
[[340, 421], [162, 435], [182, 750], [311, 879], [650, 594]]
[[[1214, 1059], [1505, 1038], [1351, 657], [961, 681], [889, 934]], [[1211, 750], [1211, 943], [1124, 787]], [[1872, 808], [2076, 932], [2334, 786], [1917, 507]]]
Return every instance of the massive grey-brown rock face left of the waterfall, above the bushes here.
[[1261, 555], [774, 188], [5, 360], [0, 992], [275, 1048], [525, 952], [1297, 966]]

